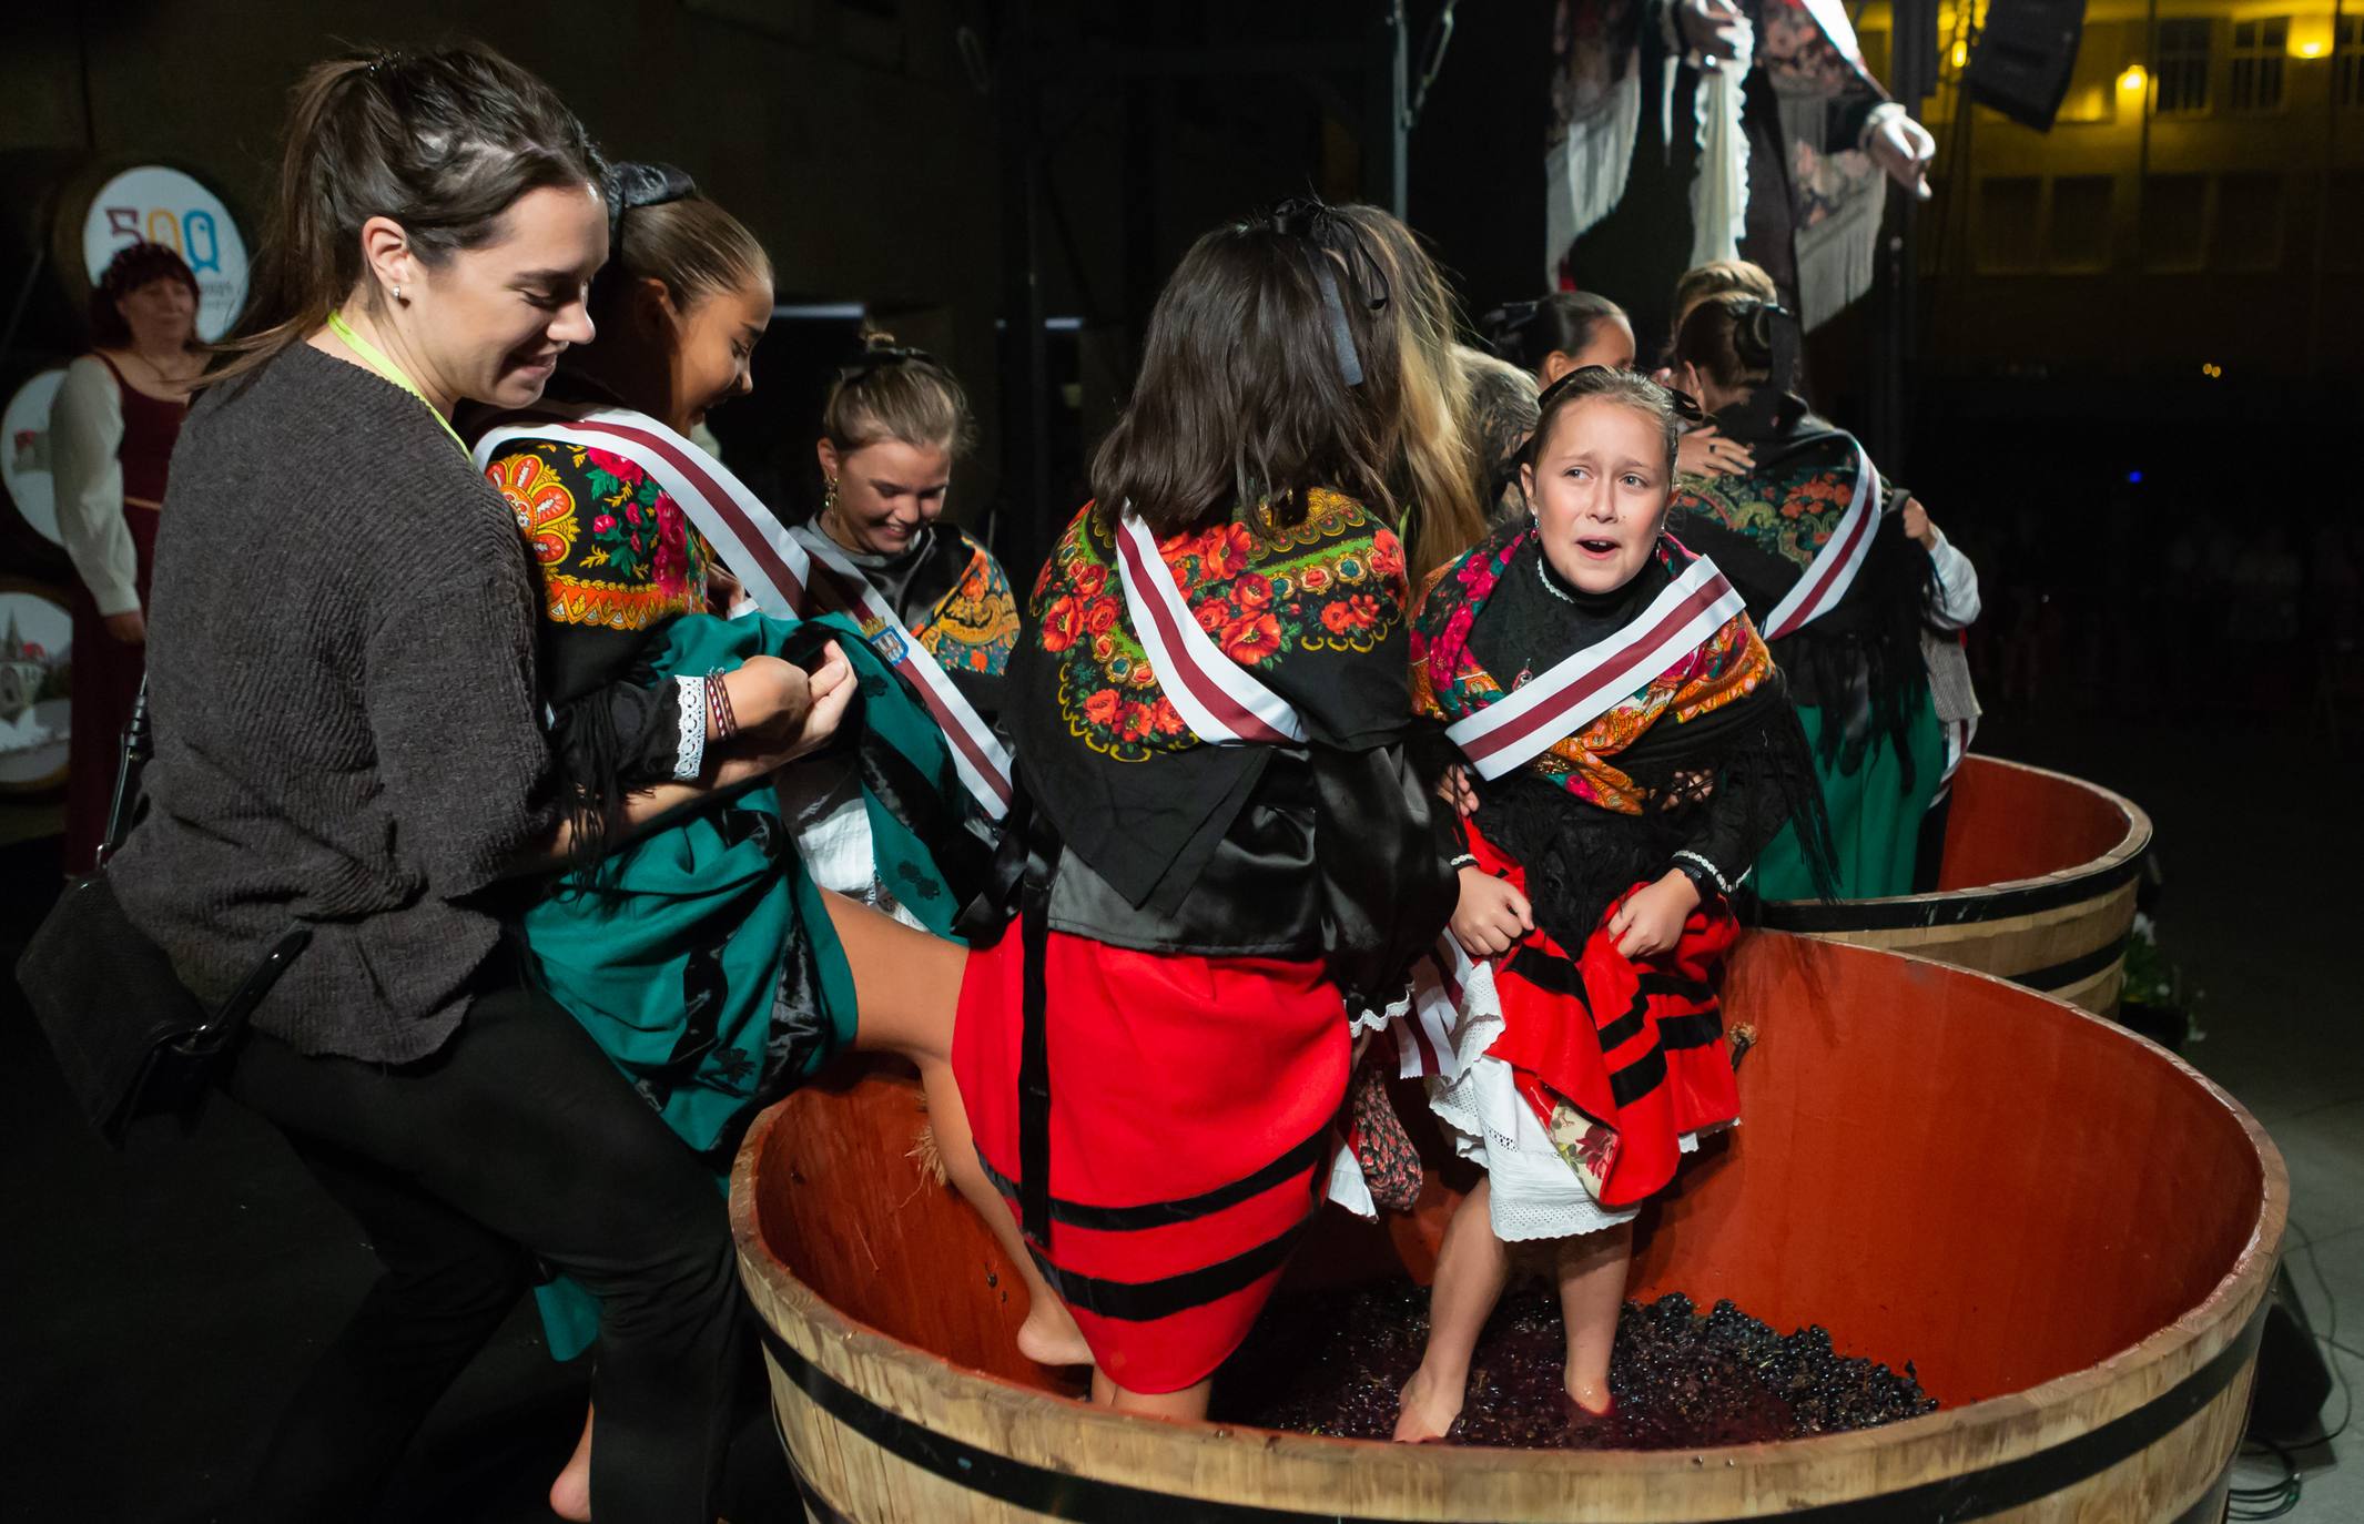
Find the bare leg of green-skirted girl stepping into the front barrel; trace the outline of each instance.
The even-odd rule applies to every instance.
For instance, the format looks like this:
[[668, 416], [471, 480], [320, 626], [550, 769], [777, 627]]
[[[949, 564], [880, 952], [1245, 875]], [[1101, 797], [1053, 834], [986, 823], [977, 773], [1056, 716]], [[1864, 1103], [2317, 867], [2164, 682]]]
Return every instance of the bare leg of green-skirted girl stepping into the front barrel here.
[[1066, 1304], [1043, 1281], [1017, 1217], [1000, 1191], [986, 1179], [969, 1134], [969, 1111], [953, 1077], [953, 1016], [960, 1009], [960, 976], [967, 950], [957, 943], [913, 931], [894, 917], [844, 895], [823, 891], [830, 924], [853, 969], [858, 1007], [853, 1047], [863, 1051], [903, 1054], [920, 1066], [927, 1092], [927, 1120], [936, 1129], [936, 1151], [953, 1188], [986, 1219], [995, 1243], [1009, 1255], [1026, 1281], [1026, 1323], [1019, 1326], [1019, 1354], [1040, 1366], [1087, 1366], [1092, 1349]]

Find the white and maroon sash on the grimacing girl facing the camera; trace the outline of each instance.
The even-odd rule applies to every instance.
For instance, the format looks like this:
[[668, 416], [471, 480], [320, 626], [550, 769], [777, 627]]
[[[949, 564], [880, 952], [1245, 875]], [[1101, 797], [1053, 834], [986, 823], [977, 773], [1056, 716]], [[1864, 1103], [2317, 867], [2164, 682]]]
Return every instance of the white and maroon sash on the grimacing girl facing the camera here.
[[1704, 555], [1650, 600], [1631, 624], [1556, 662], [1515, 692], [1444, 728], [1478, 775], [1501, 777], [1641, 692], [1735, 614], [1740, 591]]

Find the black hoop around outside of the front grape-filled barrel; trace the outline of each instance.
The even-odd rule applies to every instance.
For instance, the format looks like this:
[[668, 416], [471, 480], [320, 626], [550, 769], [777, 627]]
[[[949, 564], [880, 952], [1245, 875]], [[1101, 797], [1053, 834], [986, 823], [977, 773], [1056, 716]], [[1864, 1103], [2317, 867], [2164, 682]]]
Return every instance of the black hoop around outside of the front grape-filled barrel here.
[[[2033, 1455], [2002, 1460], [1976, 1472], [1946, 1477], [1943, 1481], [1924, 1481], [1920, 1486], [1905, 1486], [1870, 1498], [1799, 1507], [1794, 1512], [1782, 1512], [1780, 1517], [1790, 1524], [1894, 1524], [1896, 1519], [1964, 1524], [1969, 1519], [1986, 1519], [2076, 1486], [2078, 1481], [2097, 1477], [2121, 1460], [2151, 1448], [2180, 1425], [2191, 1420], [2194, 1413], [2215, 1401], [2215, 1396], [2234, 1382], [2251, 1356], [2255, 1356], [2258, 1340], [2265, 1335], [2265, 1307], [2267, 1304], [2260, 1300], [2241, 1333], [2206, 1366], [2139, 1408], [2121, 1413], [2118, 1418], [2097, 1429], [2087, 1429], [2076, 1439], [2066, 1439]], [[1369, 1515], [1298, 1512], [1288, 1507], [1260, 1507], [1253, 1503], [1177, 1498], [1173, 1493], [1128, 1486], [1123, 1481], [1078, 1477], [1073, 1472], [1057, 1472], [1026, 1460], [1014, 1460], [1009, 1455], [995, 1455], [993, 1451], [939, 1434], [903, 1418], [901, 1413], [882, 1408], [813, 1361], [804, 1359], [804, 1354], [768, 1323], [764, 1326], [764, 1349], [771, 1352], [771, 1359], [780, 1363], [780, 1370], [806, 1396], [820, 1403], [830, 1418], [846, 1425], [889, 1455], [908, 1460], [920, 1470], [934, 1472], [946, 1481], [983, 1493], [998, 1503], [1007, 1503], [1009, 1507], [1024, 1507], [1052, 1519], [1087, 1519], [1106, 1524], [1310, 1524], [1312, 1519], [1324, 1519], [1329, 1524], [1399, 1524]], [[794, 1451], [790, 1451], [790, 1463], [794, 1465]], [[823, 1493], [811, 1491], [801, 1467], [797, 1470], [797, 1479], [808, 1489], [808, 1496], [820, 1503], [820, 1510], [816, 1512], [823, 1512], [825, 1519], [849, 1517]], [[2210, 1491], [2201, 1496], [2201, 1503], [2206, 1503], [2213, 1493], [2215, 1489], [2210, 1486]], [[1756, 1524], [1756, 1519], [1759, 1517], [1752, 1515], [1735, 1519], [1702, 1519], [1700, 1524]], [[2177, 1524], [2182, 1524], [2182, 1519]]]

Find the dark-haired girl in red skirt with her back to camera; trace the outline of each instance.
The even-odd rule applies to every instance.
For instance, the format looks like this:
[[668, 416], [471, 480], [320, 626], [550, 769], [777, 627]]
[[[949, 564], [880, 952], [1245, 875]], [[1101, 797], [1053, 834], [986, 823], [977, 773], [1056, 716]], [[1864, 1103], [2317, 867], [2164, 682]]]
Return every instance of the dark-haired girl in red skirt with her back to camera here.
[[1012, 669], [1026, 860], [953, 1070], [1125, 1411], [1206, 1413], [1321, 1205], [1350, 1016], [1404, 997], [1451, 910], [1404, 747], [1383, 302], [1326, 208], [1203, 236]]

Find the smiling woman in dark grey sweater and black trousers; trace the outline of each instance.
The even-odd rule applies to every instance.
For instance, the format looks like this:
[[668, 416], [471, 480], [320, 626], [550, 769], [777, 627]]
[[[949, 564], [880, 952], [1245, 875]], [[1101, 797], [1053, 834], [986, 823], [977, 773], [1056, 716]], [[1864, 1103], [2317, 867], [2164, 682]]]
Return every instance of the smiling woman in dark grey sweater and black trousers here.
[[[312, 929], [225, 1087], [385, 1264], [274, 1434], [241, 1519], [359, 1517], [532, 1278], [603, 1302], [603, 1524], [712, 1519], [738, 1375], [700, 1162], [501, 947], [501, 881], [567, 848], [534, 697], [537, 593], [449, 413], [539, 397], [608, 253], [574, 116], [485, 50], [331, 61], [296, 92], [258, 307], [163, 515], [132, 921], [222, 999]], [[818, 744], [842, 662], [728, 676], [747, 735], [636, 794], [643, 829]]]

